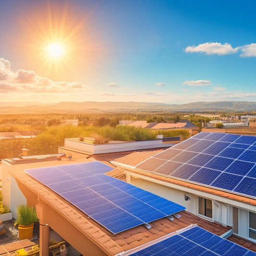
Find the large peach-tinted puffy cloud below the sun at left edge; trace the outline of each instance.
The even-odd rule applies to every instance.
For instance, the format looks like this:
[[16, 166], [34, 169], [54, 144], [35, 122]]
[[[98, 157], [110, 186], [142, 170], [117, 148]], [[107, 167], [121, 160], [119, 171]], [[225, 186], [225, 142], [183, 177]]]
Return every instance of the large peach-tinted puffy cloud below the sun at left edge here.
[[14, 72], [9, 61], [0, 59], [0, 93], [77, 93], [84, 89], [85, 86], [81, 82], [53, 82], [38, 76], [34, 71], [24, 69]]

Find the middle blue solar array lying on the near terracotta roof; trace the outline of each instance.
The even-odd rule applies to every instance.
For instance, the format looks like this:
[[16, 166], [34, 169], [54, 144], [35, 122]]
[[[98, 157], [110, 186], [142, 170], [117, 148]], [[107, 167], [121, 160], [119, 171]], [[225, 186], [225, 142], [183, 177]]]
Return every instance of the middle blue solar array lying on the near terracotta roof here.
[[180, 212], [185, 207], [132, 184], [102, 174], [101, 162], [25, 170], [116, 234]]

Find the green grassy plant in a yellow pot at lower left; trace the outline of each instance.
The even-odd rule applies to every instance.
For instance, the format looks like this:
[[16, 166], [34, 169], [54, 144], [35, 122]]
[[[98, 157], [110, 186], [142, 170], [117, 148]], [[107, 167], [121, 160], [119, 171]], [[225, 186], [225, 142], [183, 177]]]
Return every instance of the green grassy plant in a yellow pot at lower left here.
[[19, 239], [30, 239], [33, 237], [34, 222], [38, 222], [37, 212], [34, 207], [21, 204], [17, 207], [17, 219], [14, 225], [19, 225]]

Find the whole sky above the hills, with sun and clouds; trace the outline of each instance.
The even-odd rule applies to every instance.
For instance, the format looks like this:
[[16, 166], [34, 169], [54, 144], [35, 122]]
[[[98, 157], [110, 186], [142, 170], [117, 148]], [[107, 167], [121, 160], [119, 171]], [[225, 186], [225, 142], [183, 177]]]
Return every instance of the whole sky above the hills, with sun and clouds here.
[[255, 13], [255, 0], [0, 1], [0, 101], [256, 101]]

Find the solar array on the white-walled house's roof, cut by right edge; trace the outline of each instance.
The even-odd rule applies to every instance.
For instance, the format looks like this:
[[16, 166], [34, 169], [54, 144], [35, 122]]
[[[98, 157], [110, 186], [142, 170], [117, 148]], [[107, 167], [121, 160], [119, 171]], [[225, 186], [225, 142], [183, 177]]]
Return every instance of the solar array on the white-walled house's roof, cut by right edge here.
[[136, 168], [256, 197], [256, 136], [202, 132]]

